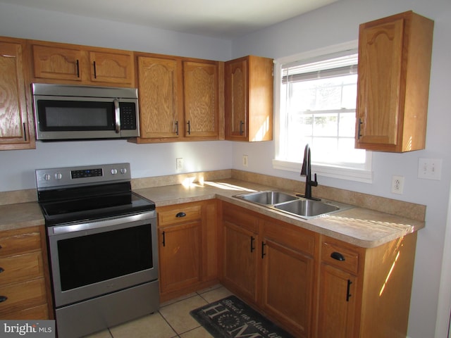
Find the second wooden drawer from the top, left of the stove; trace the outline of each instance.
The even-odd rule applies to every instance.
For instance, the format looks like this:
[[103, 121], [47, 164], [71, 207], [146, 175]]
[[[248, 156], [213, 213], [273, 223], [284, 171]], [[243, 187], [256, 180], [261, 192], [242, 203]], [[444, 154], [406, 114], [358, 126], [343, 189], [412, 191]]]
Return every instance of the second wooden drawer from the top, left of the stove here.
[[0, 257], [1, 285], [32, 280], [44, 275], [42, 268], [42, 253], [34, 251], [23, 255]]

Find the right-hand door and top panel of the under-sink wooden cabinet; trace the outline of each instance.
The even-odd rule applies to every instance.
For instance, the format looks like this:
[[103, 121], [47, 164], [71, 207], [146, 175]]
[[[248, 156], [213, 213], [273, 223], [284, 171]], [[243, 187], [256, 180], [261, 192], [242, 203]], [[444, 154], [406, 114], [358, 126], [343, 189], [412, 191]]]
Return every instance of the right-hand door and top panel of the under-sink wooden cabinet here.
[[277, 220], [263, 227], [261, 305], [296, 337], [311, 337], [316, 237]]

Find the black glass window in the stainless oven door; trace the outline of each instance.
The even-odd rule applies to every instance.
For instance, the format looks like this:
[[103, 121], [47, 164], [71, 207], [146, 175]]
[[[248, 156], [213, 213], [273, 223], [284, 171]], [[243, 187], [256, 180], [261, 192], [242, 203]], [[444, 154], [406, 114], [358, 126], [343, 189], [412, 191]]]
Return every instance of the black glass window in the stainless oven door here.
[[153, 268], [151, 225], [58, 241], [61, 290]]

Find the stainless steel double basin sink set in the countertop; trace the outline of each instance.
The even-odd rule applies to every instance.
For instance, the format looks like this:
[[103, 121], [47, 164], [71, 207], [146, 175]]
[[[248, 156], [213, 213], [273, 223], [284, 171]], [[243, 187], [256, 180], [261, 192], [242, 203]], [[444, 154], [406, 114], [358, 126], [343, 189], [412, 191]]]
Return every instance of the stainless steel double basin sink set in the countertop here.
[[316, 218], [352, 208], [350, 205], [335, 201], [315, 201], [276, 190], [250, 192], [247, 194], [238, 194], [234, 197], [304, 219]]

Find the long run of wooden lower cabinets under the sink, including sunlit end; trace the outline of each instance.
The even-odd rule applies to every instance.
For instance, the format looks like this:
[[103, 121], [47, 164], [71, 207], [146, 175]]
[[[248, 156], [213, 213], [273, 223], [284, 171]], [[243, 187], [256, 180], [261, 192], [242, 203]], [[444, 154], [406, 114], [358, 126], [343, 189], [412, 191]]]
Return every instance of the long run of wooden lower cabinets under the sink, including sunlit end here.
[[405, 338], [416, 232], [365, 249], [223, 202], [221, 283], [295, 337]]

